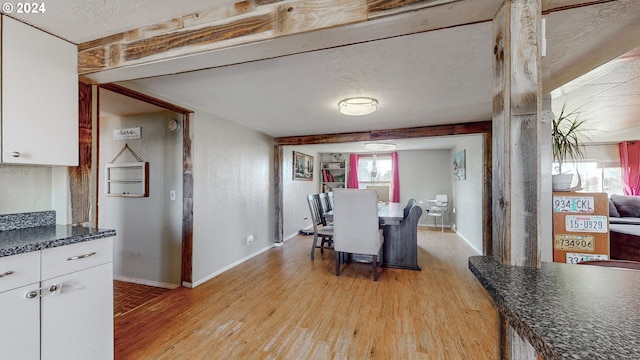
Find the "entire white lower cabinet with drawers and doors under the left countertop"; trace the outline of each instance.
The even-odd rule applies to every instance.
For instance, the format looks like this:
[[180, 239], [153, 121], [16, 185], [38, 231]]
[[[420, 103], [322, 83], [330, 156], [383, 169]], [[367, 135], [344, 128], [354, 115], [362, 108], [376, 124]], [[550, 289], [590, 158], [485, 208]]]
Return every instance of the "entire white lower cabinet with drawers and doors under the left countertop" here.
[[110, 238], [0, 258], [2, 358], [113, 359], [112, 259]]

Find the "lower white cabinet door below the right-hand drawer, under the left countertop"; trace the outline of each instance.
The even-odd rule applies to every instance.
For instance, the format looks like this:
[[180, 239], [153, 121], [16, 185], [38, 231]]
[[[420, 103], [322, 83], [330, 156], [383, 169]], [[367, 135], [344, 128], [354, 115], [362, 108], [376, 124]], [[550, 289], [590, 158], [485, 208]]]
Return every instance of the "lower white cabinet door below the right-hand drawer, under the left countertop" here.
[[42, 359], [113, 359], [111, 263], [42, 283]]

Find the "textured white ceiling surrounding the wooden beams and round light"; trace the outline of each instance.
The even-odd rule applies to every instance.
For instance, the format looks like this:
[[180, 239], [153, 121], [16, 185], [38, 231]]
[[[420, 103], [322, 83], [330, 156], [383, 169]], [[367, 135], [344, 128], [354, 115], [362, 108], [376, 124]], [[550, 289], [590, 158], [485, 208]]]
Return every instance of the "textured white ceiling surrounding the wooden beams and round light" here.
[[[158, 65], [153, 64], [97, 76], [99, 82], [129, 80], [124, 84], [272, 136], [489, 120], [490, 15], [496, 3], [464, 0], [460, 4], [470, 5], [463, 11], [443, 12], [437, 19], [453, 24], [461, 16], [482, 13], [487, 22], [421, 32], [426, 12], [416, 11], [159, 65], [166, 74], [208, 68], [203, 71], [149, 77], [148, 68]], [[79, 43], [230, 4], [58, 0], [46, 4], [45, 14], [22, 20]], [[596, 142], [640, 139], [640, 63], [637, 52], [623, 55], [640, 46], [640, 1], [554, 11], [545, 18], [543, 88], [556, 89], [554, 111], [565, 100], [579, 106], [598, 124], [592, 134]], [[360, 118], [340, 115], [337, 102], [353, 95], [378, 98], [379, 111]]]

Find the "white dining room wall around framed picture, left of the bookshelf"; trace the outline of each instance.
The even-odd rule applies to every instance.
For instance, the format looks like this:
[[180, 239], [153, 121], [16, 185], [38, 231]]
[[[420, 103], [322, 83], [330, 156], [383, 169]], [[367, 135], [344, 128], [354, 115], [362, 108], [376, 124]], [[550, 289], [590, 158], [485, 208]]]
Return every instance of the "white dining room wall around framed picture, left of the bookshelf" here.
[[[313, 156], [313, 181], [293, 180], [293, 151]], [[283, 154], [283, 227], [284, 239], [298, 234], [300, 229], [310, 227], [307, 195], [316, 194], [320, 189], [320, 155], [304, 146], [284, 146]]]

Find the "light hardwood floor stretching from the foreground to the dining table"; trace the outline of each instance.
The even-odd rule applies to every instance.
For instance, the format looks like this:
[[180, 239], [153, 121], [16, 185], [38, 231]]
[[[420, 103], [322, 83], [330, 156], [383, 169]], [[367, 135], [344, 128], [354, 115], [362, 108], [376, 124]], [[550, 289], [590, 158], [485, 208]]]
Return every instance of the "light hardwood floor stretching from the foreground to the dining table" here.
[[451, 232], [418, 232], [422, 271], [309, 259], [299, 236], [115, 318], [122, 359], [497, 359], [498, 317]]

